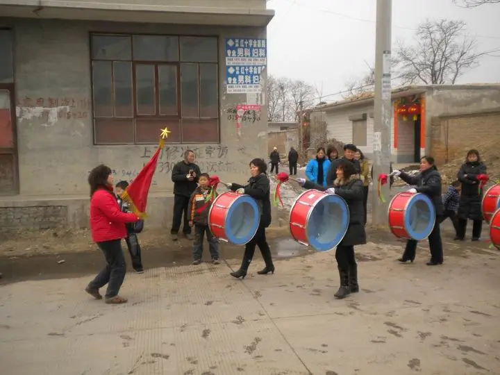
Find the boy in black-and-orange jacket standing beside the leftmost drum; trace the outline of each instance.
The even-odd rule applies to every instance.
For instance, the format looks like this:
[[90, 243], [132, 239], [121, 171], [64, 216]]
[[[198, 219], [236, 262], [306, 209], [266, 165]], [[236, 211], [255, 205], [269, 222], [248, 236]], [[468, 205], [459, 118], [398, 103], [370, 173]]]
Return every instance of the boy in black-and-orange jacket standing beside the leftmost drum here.
[[194, 226], [194, 242], [193, 242], [193, 265], [201, 263], [201, 255], [203, 254], [203, 237], [206, 233], [208, 241], [208, 249], [212, 257], [214, 265], [219, 264], [219, 240], [215, 238], [208, 228], [208, 211], [212, 202], [208, 200], [212, 188], [209, 185], [210, 176], [208, 173], [202, 173], [199, 176], [199, 186], [194, 192], [189, 201], [188, 215], [190, 215], [190, 226]]

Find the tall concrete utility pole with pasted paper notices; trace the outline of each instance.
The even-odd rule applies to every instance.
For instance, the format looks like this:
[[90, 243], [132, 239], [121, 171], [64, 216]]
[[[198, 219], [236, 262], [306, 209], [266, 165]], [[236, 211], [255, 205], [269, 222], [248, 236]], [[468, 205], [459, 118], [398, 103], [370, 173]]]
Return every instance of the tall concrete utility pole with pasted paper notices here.
[[372, 188], [372, 224], [387, 224], [390, 202], [389, 183], [382, 187], [385, 203], [378, 198], [378, 176], [389, 175], [391, 151], [391, 22], [392, 0], [377, 0], [375, 42], [374, 165]]

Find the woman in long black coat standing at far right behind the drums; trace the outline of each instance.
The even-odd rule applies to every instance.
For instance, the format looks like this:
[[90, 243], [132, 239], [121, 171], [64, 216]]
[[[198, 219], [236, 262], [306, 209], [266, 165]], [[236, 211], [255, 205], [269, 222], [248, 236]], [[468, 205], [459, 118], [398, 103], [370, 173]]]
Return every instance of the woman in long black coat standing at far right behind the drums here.
[[483, 189], [479, 189], [480, 181], [477, 176], [486, 174], [486, 165], [481, 162], [477, 150], [467, 152], [465, 163], [458, 171], [458, 181], [462, 183], [460, 202], [458, 203], [458, 230], [455, 240], [463, 241], [467, 229], [467, 219], [473, 221], [472, 241], [481, 238], [483, 229], [483, 212], [481, 203], [483, 201]]

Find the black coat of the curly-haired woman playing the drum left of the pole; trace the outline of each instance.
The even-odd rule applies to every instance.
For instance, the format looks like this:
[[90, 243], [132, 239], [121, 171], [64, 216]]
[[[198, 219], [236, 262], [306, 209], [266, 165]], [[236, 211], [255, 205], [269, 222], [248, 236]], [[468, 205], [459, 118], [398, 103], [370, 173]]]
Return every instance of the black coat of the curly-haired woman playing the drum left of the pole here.
[[349, 181], [341, 182], [335, 180], [333, 185], [324, 188], [306, 181], [303, 186], [306, 189], [316, 189], [325, 191], [328, 188], [335, 188], [335, 194], [346, 201], [349, 208], [349, 227], [347, 233], [338, 246], [356, 246], [366, 244], [365, 231], [365, 208], [363, 207], [363, 181], [358, 176], [351, 176]]

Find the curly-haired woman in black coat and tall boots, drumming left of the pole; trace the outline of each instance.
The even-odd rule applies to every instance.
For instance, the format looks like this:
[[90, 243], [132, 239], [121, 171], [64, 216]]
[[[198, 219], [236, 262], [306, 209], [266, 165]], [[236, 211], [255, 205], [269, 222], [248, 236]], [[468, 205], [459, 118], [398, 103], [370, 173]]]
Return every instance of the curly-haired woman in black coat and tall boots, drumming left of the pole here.
[[297, 182], [306, 189], [326, 190], [328, 193], [337, 194], [346, 201], [349, 208], [349, 227], [335, 250], [340, 288], [334, 295], [338, 299], [342, 299], [351, 293], [359, 292], [358, 265], [356, 264], [354, 247], [366, 244], [365, 208], [363, 208], [363, 182], [356, 174], [353, 163], [341, 160], [335, 174], [337, 178], [330, 188], [324, 188], [322, 185], [311, 183], [304, 178], [297, 178]]

